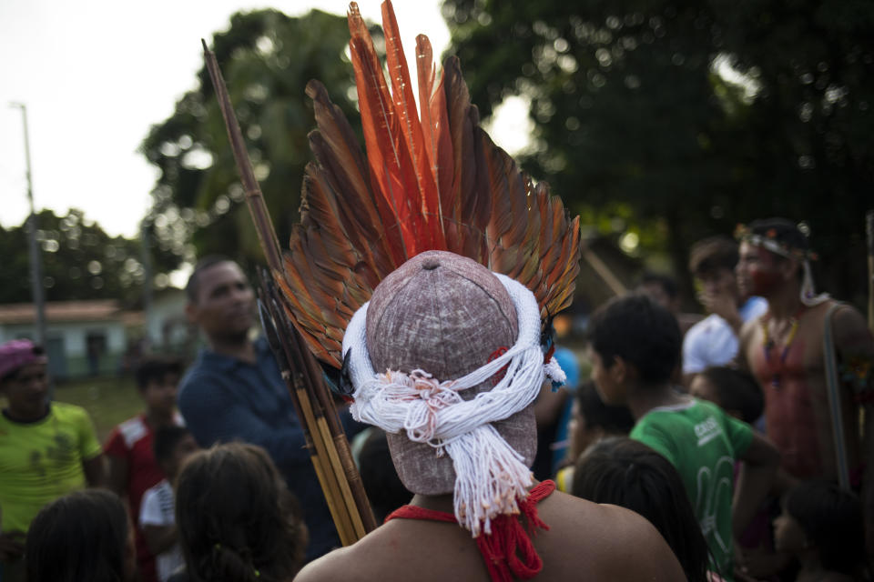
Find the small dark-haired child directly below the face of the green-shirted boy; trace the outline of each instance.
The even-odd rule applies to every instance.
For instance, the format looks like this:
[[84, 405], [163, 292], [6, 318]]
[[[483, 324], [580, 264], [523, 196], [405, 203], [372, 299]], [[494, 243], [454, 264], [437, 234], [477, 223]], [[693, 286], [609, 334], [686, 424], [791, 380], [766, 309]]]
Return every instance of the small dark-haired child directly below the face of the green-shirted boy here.
[[555, 486], [565, 493], [571, 491], [574, 464], [586, 448], [604, 437], [624, 437], [635, 426], [635, 418], [626, 406], [604, 404], [592, 380], [587, 380], [577, 389], [571, 414], [568, 464], [555, 474]]

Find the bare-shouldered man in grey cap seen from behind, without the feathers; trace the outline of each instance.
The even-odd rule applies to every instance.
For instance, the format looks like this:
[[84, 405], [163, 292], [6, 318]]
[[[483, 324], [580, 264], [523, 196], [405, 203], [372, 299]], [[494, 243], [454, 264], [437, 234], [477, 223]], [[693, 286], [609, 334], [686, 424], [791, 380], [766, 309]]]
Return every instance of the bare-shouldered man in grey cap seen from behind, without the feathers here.
[[683, 579], [644, 518], [534, 482], [534, 398], [562, 376], [540, 328], [531, 291], [462, 256], [385, 277], [346, 331], [345, 367], [353, 415], [386, 430], [415, 496], [297, 579]]

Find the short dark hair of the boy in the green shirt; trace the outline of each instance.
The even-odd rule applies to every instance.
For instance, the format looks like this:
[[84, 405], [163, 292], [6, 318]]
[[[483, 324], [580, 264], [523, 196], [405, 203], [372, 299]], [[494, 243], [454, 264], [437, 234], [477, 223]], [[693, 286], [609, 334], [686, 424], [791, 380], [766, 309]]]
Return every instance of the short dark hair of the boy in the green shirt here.
[[614, 297], [589, 320], [586, 336], [605, 367], [619, 356], [645, 384], [669, 380], [680, 357], [676, 317], [643, 294]]

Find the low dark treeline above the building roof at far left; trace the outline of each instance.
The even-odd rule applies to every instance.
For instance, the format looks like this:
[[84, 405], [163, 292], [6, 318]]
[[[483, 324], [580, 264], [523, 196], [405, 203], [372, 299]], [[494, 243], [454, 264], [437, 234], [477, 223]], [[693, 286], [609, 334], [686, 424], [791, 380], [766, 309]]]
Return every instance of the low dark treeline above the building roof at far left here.
[[[145, 268], [139, 241], [108, 236], [86, 220], [81, 210], [55, 216], [43, 210], [36, 216], [36, 240], [43, 266], [46, 301], [123, 299], [136, 303], [142, 295]], [[32, 301], [27, 223], [0, 226], [0, 303]], [[172, 257], [152, 259], [160, 270], [175, 266]]]

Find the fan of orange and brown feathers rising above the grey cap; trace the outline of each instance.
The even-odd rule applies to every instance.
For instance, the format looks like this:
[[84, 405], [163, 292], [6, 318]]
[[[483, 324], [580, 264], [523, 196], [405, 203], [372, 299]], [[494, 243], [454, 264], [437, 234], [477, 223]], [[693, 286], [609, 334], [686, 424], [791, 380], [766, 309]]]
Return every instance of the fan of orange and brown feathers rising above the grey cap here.
[[274, 273], [294, 326], [336, 367], [351, 316], [422, 251], [451, 251], [512, 277], [534, 293], [544, 318], [570, 305], [579, 271], [579, 217], [570, 220], [548, 186], [534, 184], [494, 145], [458, 59], [448, 58], [438, 77], [428, 37], [417, 36], [413, 85], [390, 1], [382, 18], [388, 81], [358, 5], [350, 5], [366, 155], [324, 85], [307, 85], [315, 161], [284, 272]]

